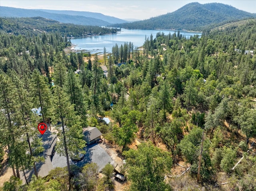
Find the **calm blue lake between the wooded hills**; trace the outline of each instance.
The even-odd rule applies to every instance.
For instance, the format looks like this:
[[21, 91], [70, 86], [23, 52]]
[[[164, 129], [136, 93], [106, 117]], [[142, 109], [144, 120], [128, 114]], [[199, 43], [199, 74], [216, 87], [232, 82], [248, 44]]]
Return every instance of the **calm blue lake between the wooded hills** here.
[[[121, 29], [121, 32], [111, 35], [100, 35], [100, 36], [90, 36], [85, 38], [74, 38], [71, 39], [71, 43], [76, 45], [75, 49], [77, 51], [91, 52], [91, 53], [103, 53], [104, 47], [106, 47], [107, 52], [112, 52], [112, 47], [118, 44], [124, 45], [125, 42], [132, 42], [134, 47], [140, 47], [143, 45], [146, 37], [153, 35], [153, 39], [156, 37], [156, 33], [164, 32], [164, 34], [173, 34], [178, 31], [173, 30], [128, 30]], [[185, 35], [187, 38], [198, 34], [202, 35], [200, 32], [187, 32], [180, 31], [180, 34]]]

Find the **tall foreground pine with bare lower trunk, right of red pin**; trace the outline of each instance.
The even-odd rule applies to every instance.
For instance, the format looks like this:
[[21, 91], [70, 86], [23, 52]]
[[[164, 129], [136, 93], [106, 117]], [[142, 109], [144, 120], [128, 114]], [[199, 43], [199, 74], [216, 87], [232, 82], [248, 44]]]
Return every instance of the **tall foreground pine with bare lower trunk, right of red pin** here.
[[54, 121], [61, 122], [60, 125], [60, 142], [57, 143], [57, 152], [64, 154], [67, 160], [69, 185], [71, 179], [71, 170], [69, 156], [78, 156], [79, 153], [84, 153], [85, 141], [82, 140], [82, 126], [80, 118], [76, 116], [74, 106], [70, 104], [68, 95], [64, 90], [56, 86], [54, 89]]

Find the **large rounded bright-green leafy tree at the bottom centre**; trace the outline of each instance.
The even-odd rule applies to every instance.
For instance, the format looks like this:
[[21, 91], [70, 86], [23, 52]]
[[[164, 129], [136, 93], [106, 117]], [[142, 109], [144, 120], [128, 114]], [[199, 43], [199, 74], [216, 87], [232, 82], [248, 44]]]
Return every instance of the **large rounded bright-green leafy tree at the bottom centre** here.
[[166, 173], [170, 173], [172, 158], [168, 152], [156, 148], [151, 143], [138, 145], [138, 150], [124, 152], [128, 168], [128, 179], [133, 191], [171, 190], [164, 182]]

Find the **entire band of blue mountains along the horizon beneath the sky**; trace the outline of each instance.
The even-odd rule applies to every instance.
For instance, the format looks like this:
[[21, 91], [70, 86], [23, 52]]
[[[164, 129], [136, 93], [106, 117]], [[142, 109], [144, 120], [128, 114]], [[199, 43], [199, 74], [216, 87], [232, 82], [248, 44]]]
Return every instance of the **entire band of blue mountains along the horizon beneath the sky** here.
[[69, 10], [31, 10], [0, 6], [0, 17], [42, 17], [61, 23], [91, 26], [112, 26], [127, 29], [175, 29], [202, 31], [230, 21], [256, 18], [256, 14], [222, 3], [193, 2], [182, 8], [147, 20], [130, 22], [100, 13]]

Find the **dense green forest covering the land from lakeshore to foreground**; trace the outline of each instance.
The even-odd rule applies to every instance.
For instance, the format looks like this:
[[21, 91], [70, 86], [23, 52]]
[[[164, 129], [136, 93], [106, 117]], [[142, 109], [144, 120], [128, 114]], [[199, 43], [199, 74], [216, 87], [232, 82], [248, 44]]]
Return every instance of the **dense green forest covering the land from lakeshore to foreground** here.
[[[0, 158], [13, 172], [3, 191], [114, 189], [114, 167], [99, 173], [95, 163], [22, 185], [20, 171], [42, 160], [39, 122], [59, 130], [56, 150], [67, 159], [83, 152], [82, 128], [96, 126], [126, 159], [130, 191], [255, 190], [255, 19], [188, 39], [159, 32], [142, 49], [115, 45], [103, 60], [66, 55], [68, 45], [58, 31], [0, 34]], [[40, 117], [31, 111], [39, 106]]]

